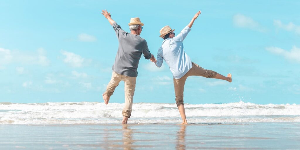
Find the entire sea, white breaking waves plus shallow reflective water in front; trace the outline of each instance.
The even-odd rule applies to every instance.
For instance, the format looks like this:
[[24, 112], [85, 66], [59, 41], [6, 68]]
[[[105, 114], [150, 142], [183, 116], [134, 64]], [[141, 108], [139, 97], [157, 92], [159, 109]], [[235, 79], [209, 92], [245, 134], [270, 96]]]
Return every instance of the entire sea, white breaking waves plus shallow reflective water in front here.
[[0, 149], [300, 149], [300, 105], [0, 103]]

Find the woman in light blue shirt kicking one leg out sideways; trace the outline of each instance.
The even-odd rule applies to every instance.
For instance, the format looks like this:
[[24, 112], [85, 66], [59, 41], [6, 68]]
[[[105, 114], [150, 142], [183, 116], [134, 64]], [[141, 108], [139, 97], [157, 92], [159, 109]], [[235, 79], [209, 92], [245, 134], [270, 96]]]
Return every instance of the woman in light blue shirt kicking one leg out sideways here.
[[163, 60], [165, 60], [173, 73], [175, 100], [182, 118], [182, 124], [187, 124], [183, 104], [183, 90], [188, 76], [204, 76], [206, 78], [223, 79], [232, 82], [230, 73], [225, 77], [215, 71], [206, 70], [198, 64], [193, 63], [190, 57], [184, 52], [182, 41], [190, 32], [190, 28], [199, 14], [201, 14], [201, 11], [195, 14], [190, 23], [177, 36], [174, 33], [175, 29], [172, 30], [170, 26], [164, 26], [160, 30], [160, 37], [164, 41], [158, 49], [157, 60], [152, 61], [157, 67], [161, 67]]

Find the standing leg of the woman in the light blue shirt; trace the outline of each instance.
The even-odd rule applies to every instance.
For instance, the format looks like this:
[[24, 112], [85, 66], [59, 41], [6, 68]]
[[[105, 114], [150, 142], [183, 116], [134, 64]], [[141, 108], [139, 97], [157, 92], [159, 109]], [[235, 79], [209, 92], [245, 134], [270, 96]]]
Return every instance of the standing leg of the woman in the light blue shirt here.
[[174, 79], [174, 89], [175, 89], [175, 100], [176, 104], [180, 113], [180, 116], [182, 118], [182, 124], [187, 124], [187, 119], [185, 116], [184, 111], [184, 104], [183, 104], [183, 91], [184, 91], [184, 84], [185, 80], [187, 79], [187, 76], [183, 76], [180, 79]]

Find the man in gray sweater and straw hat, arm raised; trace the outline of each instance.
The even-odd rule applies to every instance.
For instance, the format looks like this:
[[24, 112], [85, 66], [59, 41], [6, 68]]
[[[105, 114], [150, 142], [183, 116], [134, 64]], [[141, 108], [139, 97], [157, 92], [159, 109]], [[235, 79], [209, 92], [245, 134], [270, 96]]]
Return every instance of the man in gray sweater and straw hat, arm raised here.
[[113, 75], [103, 93], [104, 103], [108, 104], [110, 96], [113, 95], [115, 88], [120, 81], [125, 83], [125, 106], [122, 111], [122, 124], [127, 124], [131, 116], [132, 102], [137, 79], [137, 67], [143, 53], [146, 59], [154, 61], [154, 56], [150, 53], [145, 39], [140, 37], [144, 24], [140, 18], [131, 18], [129, 25], [130, 33], [125, 32], [122, 28], [111, 19], [107, 10], [102, 10], [102, 14], [108, 19], [110, 25], [116, 31], [119, 40], [119, 49], [113, 64]]

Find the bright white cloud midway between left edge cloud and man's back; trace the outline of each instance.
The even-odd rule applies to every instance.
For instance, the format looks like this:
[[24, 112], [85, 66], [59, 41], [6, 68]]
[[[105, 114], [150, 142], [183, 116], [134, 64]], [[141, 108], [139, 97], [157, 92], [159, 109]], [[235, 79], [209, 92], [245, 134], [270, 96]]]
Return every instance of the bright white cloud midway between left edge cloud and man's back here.
[[82, 58], [80, 55], [74, 54], [73, 52], [61, 50], [61, 54], [66, 56], [66, 58], [64, 58], [64, 62], [69, 64], [71, 67], [82, 67], [84, 64], [88, 64], [91, 61]]

